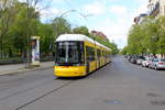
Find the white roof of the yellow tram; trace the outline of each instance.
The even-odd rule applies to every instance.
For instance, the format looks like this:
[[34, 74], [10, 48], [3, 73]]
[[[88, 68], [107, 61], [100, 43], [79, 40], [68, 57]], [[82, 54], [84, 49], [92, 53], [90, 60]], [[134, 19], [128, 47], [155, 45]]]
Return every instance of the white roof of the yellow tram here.
[[57, 37], [56, 42], [62, 42], [62, 41], [88, 41], [94, 44], [96, 43], [98, 46], [105, 47], [110, 51], [109, 47], [107, 47], [107, 46], [98, 43], [97, 41], [94, 41], [92, 38], [90, 38], [86, 35], [82, 35], [82, 34], [62, 34]]

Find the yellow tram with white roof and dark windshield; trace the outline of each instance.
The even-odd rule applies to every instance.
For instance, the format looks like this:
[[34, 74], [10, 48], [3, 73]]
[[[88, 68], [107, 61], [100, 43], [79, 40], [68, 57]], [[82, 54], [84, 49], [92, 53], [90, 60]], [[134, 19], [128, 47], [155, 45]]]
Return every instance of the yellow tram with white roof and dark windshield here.
[[110, 48], [82, 34], [63, 34], [55, 45], [56, 77], [86, 76], [111, 61]]

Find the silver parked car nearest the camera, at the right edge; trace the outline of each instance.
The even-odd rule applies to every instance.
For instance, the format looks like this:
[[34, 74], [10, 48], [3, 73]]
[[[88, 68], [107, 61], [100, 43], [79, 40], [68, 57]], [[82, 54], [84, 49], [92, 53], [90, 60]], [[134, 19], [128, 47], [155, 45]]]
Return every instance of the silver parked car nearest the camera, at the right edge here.
[[154, 69], [165, 69], [165, 59], [162, 58], [153, 58], [148, 65], [150, 68]]

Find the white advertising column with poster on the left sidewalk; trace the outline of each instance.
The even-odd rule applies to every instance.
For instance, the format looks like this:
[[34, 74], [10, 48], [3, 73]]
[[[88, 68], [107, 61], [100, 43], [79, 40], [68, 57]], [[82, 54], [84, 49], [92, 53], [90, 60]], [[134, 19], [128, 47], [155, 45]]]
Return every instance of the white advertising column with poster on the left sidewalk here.
[[40, 66], [40, 36], [32, 36], [31, 45], [32, 45], [32, 65]]

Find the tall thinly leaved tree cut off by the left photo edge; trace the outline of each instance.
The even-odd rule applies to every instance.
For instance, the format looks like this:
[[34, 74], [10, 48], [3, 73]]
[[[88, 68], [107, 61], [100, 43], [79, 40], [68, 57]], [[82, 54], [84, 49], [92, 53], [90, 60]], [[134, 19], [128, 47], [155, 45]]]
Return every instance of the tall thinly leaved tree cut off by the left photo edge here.
[[15, 0], [0, 0], [0, 57], [4, 57], [10, 46], [9, 25], [13, 22]]

